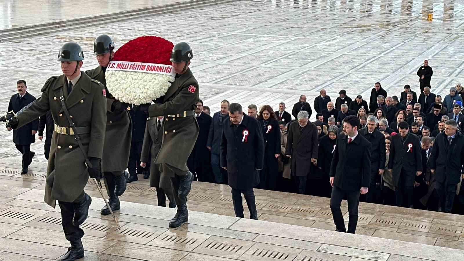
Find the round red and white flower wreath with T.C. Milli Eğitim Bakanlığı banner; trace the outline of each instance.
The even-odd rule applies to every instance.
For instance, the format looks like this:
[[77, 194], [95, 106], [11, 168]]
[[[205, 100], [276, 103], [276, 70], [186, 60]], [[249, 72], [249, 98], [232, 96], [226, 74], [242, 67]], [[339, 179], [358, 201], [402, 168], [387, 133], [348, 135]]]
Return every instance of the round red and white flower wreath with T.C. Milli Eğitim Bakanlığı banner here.
[[175, 78], [169, 61], [173, 47], [173, 43], [156, 36], [138, 37], [121, 46], [105, 72], [110, 93], [135, 105], [163, 96]]

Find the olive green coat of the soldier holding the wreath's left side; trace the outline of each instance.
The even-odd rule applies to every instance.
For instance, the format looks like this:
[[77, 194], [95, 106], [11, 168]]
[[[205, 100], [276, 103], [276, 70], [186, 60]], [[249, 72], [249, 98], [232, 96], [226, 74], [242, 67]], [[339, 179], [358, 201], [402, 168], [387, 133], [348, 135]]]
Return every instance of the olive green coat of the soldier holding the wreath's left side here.
[[111, 111], [116, 99], [106, 88], [102, 66], [86, 71], [87, 75], [100, 81], [106, 89], [106, 132], [103, 145], [102, 171], [123, 171], [129, 163], [132, 124], [128, 111]]

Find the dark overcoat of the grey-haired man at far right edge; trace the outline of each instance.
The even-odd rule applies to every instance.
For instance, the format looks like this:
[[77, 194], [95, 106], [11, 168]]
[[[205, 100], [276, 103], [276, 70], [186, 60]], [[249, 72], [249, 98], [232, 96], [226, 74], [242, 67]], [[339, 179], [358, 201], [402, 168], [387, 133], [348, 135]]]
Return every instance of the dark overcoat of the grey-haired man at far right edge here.
[[448, 185], [458, 184], [464, 164], [464, 136], [457, 131], [451, 145], [445, 133], [440, 133], [433, 144], [430, 169], [435, 170], [438, 182]]

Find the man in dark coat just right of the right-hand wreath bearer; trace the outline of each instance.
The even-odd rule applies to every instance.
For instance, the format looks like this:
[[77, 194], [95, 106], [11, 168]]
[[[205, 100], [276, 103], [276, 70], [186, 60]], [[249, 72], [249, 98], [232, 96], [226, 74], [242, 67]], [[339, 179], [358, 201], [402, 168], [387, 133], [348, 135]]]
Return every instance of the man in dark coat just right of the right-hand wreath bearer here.
[[209, 128], [213, 118], [203, 113], [203, 101], [199, 100], [195, 109], [195, 118], [197, 119], [200, 132], [198, 133], [195, 147], [187, 159], [187, 167], [195, 176], [195, 180], [201, 182], [213, 182], [214, 175], [211, 170], [211, 152], [206, 148], [208, 142]]

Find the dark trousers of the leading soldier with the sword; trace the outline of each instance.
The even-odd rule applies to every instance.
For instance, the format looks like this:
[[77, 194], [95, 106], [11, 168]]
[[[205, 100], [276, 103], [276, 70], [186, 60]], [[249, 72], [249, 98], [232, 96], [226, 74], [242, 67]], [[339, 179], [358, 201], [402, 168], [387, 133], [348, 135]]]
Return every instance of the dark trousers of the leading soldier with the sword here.
[[78, 196], [74, 202], [58, 201], [58, 205], [61, 209], [61, 225], [63, 226], [64, 235], [67, 241], [76, 241], [84, 236], [84, 230], [72, 224], [76, 203], [82, 201], [85, 201], [84, 191], [82, 191], [81, 195]]

